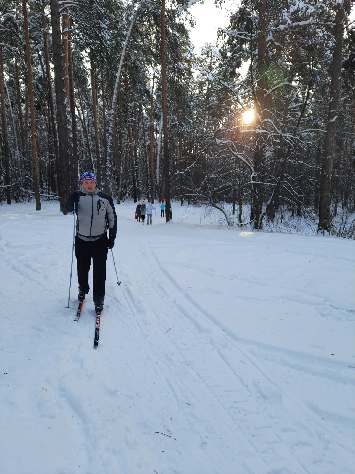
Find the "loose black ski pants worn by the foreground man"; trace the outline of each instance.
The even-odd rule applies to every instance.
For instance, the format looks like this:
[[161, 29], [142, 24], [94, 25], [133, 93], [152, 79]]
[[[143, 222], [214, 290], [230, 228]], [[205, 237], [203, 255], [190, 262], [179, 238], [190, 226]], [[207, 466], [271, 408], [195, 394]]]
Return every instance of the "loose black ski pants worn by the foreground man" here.
[[95, 304], [105, 300], [107, 235], [89, 242], [75, 237], [76, 268], [78, 271], [79, 291], [89, 293], [89, 269], [92, 259], [92, 293]]

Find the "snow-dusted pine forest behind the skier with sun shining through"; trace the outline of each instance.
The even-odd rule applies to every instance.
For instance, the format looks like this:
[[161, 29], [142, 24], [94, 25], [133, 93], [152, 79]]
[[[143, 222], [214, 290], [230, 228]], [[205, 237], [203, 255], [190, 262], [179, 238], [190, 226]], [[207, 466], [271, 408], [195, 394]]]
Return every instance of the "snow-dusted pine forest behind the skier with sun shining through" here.
[[118, 204], [164, 193], [167, 221], [355, 238], [355, 0], [236, 1], [200, 52], [191, 3], [0, 0], [0, 202], [65, 212], [93, 171]]

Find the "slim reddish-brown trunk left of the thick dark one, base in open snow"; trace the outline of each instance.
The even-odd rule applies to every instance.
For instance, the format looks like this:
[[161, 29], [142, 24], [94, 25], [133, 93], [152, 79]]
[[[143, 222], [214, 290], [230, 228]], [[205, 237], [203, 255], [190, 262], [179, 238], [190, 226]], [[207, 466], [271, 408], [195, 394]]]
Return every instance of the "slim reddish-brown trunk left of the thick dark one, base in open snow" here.
[[41, 210], [41, 200], [39, 197], [39, 183], [38, 183], [38, 167], [37, 167], [37, 136], [35, 129], [35, 99], [33, 95], [33, 82], [32, 82], [32, 65], [31, 65], [31, 51], [29, 43], [29, 31], [27, 22], [27, 1], [22, 0], [23, 8], [23, 19], [25, 29], [25, 41], [26, 41], [26, 63], [27, 63], [27, 83], [28, 83], [28, 98], [31, 114], [31, 144], [32, 144], [32, 158], [33, 158], [33, 182], [35, 187], [35, 205], [36, 210]]

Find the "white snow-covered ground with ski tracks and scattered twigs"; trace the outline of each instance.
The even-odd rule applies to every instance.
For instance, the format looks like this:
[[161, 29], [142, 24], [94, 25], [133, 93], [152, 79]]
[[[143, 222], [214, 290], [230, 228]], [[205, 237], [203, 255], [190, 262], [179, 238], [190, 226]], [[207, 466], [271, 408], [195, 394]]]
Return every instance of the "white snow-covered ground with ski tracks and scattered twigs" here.
[[94, 349], [72, 216], [0, 206], [0, 473], [353, 474], [355, 242], [134, 209]]

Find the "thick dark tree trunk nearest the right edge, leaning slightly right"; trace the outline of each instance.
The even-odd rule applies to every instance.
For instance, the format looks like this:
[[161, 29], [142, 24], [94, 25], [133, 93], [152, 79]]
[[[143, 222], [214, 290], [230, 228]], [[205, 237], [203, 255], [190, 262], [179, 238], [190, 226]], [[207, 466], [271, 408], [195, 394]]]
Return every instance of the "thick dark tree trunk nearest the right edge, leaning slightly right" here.
[[320, 177], [320, 200], [318, 231], [330, 232], [330, 186], [333, 173], [334, 144], [337, 132], [337, 115], [339, 109], [339, 93], [341, 83], [342, 43], [345, 11], [342, 5], [337, 4], [335, 14], [333, 64], [331, 72], [330, 100], [328, 112], [327, 132], [325, 136], [322, 173]]

